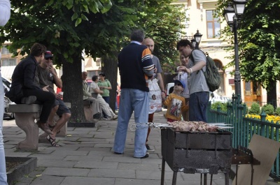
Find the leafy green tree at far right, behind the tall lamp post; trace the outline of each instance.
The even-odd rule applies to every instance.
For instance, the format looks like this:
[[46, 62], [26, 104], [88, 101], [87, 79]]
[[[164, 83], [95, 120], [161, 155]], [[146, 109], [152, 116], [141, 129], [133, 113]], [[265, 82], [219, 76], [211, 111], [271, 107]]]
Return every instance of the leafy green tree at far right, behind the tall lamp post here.
[[[228, 3], [230, 1], [218, 1], [218, 9], [223, 10]], [[241, 77], [260, 82], [267, 90], [267, 102], [276, 99], [274, 90], [280, 79], [279, 6], [280, 1], [276, 0], [249, 0], [238, 28]]]

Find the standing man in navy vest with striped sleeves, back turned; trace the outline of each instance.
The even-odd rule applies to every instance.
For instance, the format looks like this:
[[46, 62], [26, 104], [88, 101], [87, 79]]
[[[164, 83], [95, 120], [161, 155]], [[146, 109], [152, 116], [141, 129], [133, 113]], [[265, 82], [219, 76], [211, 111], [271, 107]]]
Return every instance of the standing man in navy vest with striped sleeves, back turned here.
[[151, 59], [151, 50], [142, 45], [144, 31], [134, 30], [130, 36], [130, 44], [118, 55], [120, 70], [120, 108], [113, 151], [123, 154], [127, 127], [134, 112], [137, 126], [134, 136], [134, 157], [147, 158], [146, 137], [148, 132], [149, 94], [146, 80], [153, 78], [155, 64]]

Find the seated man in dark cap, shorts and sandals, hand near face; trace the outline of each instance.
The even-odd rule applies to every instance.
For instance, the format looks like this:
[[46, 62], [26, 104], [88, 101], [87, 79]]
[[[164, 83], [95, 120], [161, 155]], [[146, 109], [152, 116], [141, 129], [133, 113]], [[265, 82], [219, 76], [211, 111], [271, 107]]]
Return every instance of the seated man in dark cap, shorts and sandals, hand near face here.
[[[45, 58], [37, 67], [35, 79], [36, 84], [38, 84], [38, 86], [41, 87], [44, 91], [49, 91], [52, 94], [55, 94], [54, 84], [61, 89], [62, 80], [59, 79], [55, 68], [53, 68], [52, 66], [52, 59], [52, 52], [46, 51]], [[48, 125], [52, 129], [52, 134], [48, 135], [46, 139], [53, 147], [59, 147], [59, 145], [57, 145], [57, 143], [55, 142], [55, 136], [59, 132], [60, 128], [62, 128], [62, 126], [64, 126], [64, 124], [66, 124], [66, 122], [71, 117], [71, 112], [62, 101], [62, 98], [62, 95], [55, 94], [55, 103], [52, 105], [52, 111], [50, 112], [50, 116], [48, 118]], [[59, 116], [59, 119], [54, 125], [53, 119], [55, 113]]]

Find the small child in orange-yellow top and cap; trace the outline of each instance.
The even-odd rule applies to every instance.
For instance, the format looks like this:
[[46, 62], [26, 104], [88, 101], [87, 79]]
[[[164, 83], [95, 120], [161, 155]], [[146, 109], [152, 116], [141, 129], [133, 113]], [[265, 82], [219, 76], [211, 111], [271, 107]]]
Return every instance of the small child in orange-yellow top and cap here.
[[180, 80], [174, 80], [174, 90], [172, 94], [169, 94], [168, 98], [165, 100], [162, 98], [163, 104], [167, 106], [167, 113], [165, 117], [167, 121], [181, 121], [182, 110], [188, 110], [186, 106], [185, 98], [181, 96], [185, 88], [185, 83]]

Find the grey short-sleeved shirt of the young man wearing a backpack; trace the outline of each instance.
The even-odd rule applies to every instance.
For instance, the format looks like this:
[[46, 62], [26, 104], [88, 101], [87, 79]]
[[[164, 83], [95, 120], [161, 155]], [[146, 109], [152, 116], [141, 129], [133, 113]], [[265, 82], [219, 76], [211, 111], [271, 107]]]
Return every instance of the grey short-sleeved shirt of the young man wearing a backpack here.
[[[188, 68], [195, 66], [195, 64], [197, 64], [200, 61], [204, 61], [205, 63], [207, 62], [204, 52], [200, 50], [193, 50], [192, 54], [193, 57], [190, 57], [188, 61]], [[203, 73], [203, 71], [205, 70], [206, 66], [204, 66], [200, 71], [194, 71], [189, 75], [188, 89], [190, 91], [190, 94], [202, 91], [209, 91], [209, 87]]]

